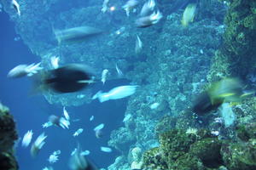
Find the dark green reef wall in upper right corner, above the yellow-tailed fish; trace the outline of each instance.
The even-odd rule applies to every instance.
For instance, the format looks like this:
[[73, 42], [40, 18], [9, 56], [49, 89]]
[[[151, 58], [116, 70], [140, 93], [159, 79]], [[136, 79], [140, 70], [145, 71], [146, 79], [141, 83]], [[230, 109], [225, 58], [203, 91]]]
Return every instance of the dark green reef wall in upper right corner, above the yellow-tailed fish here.
[[224, 23], [224, 43], [212, 60], [207, 79], [215, 82], [222, 77], [241, 77], [254, 71], [256, 59], [256, 3], [250, 0], [230, 0]]

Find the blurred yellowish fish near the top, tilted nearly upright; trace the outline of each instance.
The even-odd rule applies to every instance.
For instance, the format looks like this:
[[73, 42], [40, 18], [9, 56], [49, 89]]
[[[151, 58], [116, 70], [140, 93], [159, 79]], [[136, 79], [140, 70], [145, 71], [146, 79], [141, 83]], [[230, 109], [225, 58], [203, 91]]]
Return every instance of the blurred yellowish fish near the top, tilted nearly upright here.
[[183, 12], [183, 18], [181, 20], [181, 23], [184, 27], [189, 26], [189, 22], [193, 22], [195, 17], [195, 9], [195, 3], [189, 3], [188, 6], [185, 8]]

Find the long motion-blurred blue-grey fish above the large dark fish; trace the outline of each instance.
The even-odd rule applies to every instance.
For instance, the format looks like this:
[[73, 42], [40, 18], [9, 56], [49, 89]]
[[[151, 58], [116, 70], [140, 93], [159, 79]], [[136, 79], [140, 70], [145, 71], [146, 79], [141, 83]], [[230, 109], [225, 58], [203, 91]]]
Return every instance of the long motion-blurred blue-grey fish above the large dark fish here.
[[90, 37], [96, 37], [102, 34], [103, 31], [90, 26], [79, 26], [65, 30], [55, 30], [54, 33], [57, 42], [61, 44], [63, 42], [81, 42]]

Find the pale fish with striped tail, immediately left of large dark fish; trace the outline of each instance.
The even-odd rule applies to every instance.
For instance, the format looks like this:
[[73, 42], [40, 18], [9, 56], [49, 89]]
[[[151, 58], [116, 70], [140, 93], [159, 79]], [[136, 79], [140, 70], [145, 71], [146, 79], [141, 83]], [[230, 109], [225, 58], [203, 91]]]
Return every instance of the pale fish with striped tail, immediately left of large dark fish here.
[[17, 65], [15, 68], [9, 71], [7, 77], [10, 78], [19, 78], [19, 77], [32, 77], [33, 75], [37, 74], [38, 71], [43, 70], [42, 67], [40, 67], [41, 63], [32, 65]]

